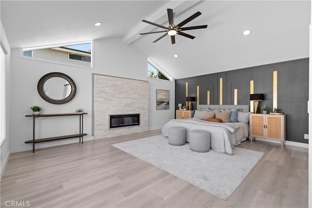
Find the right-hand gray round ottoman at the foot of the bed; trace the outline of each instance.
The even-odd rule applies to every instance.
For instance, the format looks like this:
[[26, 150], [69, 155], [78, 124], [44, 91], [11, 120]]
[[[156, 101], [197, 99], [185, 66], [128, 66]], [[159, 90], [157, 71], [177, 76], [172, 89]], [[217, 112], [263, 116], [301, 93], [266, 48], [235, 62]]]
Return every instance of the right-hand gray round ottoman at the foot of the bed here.
[[208, 152], [210, 150], [210, 132], [193, 130], [190, 132], [190, 150]]

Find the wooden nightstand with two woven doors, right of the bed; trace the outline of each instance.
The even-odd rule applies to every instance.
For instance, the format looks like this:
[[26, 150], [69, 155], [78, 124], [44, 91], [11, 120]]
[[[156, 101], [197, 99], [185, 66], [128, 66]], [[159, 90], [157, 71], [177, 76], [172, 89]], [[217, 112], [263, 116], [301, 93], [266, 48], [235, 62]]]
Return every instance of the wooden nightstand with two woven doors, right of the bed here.
[[249, 119], [249, 135], [253, 141], [253, 137], [261, 137], [267, 139], [275, 139], [281, 141], [282, 147], [286, 134], [286, 115], [273, 115], [250, 113]]

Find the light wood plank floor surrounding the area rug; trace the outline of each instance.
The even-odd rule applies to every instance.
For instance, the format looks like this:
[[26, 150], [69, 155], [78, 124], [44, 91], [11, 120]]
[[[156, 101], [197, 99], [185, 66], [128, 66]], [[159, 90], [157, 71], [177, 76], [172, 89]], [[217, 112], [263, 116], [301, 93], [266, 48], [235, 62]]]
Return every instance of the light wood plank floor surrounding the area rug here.
[[265, 155], [224, 201], [111, 144], [159, 130], [11, 154], [1, 180], [6, 201], [30, 207], [308, 207], [308, 149], [246, 141]]

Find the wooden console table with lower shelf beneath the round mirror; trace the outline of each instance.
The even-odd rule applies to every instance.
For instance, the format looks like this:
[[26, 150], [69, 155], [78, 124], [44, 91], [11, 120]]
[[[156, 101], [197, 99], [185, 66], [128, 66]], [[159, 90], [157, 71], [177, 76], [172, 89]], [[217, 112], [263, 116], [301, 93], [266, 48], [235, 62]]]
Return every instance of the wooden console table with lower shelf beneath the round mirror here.
[[[87, 135], [83, 133], [83, 115], [88, 113], [57, 113], [57, 114], [39, 114], [39, 115], [25, 115], [26, 117], [33, 117], [33, 139], [25, 141], [25, 143], [33, 143], [33, 152], [35, 152], [35, 143], [41, 142], [50, 142], [50, 141], [57, 141], [62, 139], [70, 139], [79, 137], [79, 142], [83, 144], [83, 136]], [[53, 116], [71, 116], [71, 115], [79, 115], [79, 133], [78, 134], [71, 134], [65, 136], [56, 136], [56, 137], [49, 137], [43, 139], [35, 139], [35, 118], [37, 117], [53, 117]]]

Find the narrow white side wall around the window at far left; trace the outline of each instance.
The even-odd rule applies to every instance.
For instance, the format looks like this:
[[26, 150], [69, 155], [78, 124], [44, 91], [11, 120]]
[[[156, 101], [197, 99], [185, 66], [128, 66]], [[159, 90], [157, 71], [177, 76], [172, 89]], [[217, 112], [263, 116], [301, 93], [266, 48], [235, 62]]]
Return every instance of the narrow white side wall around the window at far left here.
[[[7, 37], [5, 35], [4, 28], [2, 27], [2, 23], [0, 21], [0, 36], [5, 44], [6, 49], [8, 50], [8, 55], [5, 57], [5, 115], [6, 115], [6, 124], [5, 124], [5, 132], [6, 136], [4, 141], [2, 142], [0, 146], [0, 154], [2, 160], [0, 161], [0, 171], [1, 171], [1, 176], [3, 174], [3, 168], [5, 165], [5, 162], [9, 158], [9, 154], [11, 152], [10, 148], [10, 142], [11, 142], [11, 133], [10, 133], [10, 109], [11, 109], [11, 65], [10, 65], [10, 60], [11, 60], [11, 48], [9, 45], [9, 42], [7, 40]], [[0, 49], [1, 50], [1, 49]]]

